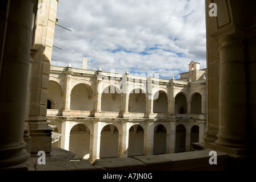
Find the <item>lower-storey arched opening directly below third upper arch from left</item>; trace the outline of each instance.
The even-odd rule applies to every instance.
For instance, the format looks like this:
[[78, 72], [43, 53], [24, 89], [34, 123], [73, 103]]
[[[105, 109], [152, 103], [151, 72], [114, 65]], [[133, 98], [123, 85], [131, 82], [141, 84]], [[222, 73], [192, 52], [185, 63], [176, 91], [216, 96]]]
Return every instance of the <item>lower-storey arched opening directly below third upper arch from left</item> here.
[[101, 130], [99, 158], [117, 158], [119, 133], [114, 125], [106, 125]]

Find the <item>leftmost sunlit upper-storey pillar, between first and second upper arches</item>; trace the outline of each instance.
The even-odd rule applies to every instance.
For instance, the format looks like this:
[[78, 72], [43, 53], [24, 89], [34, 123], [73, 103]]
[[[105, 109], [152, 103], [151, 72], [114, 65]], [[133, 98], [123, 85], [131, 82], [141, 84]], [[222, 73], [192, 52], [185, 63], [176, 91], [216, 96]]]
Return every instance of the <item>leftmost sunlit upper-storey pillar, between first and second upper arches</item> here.
[[66, 68], [66, 80], [65, 80], [65, 87], [64, 87], [64, 97], [62, 101], [62, 115], [70, 115], [70, 100], [71, 100], [71, 68]]

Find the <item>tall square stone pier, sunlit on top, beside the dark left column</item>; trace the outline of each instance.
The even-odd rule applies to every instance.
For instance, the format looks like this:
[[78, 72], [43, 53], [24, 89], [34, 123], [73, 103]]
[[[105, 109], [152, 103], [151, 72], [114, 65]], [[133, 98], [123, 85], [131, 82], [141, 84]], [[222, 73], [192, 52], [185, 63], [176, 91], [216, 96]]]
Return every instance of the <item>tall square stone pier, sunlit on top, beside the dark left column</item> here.
[[31, 69], [29, 133], [30, 153], [51, 152], [51, 127], [47, 122], [47, 94], [50, 75], [51, 52], [58, 1], [43, 1], [38, 9], [33, 49], [37, 49]]

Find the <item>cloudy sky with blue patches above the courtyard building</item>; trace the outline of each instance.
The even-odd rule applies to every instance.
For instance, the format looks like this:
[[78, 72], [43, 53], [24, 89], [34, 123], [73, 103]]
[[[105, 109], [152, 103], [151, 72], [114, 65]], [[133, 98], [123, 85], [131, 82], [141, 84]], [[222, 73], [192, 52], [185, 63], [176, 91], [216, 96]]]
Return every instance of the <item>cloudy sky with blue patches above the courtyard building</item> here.
[[190, 61], [206, 68], [203, 0], [61, 0], [52, 65], [179, 78]]

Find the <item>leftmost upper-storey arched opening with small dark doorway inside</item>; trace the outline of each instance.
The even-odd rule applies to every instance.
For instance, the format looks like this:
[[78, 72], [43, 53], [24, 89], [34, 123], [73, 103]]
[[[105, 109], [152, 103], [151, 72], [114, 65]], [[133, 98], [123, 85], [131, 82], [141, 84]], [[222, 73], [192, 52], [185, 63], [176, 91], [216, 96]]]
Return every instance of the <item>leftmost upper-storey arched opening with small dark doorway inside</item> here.
[[[49, 99], [51, 98], [51, 99]], [[47, 109], [61, 109], [62, 107], [62, 89], [55, 81], [49, 81]]]

